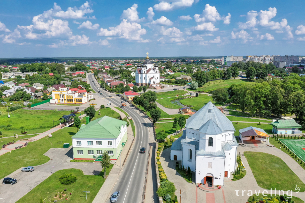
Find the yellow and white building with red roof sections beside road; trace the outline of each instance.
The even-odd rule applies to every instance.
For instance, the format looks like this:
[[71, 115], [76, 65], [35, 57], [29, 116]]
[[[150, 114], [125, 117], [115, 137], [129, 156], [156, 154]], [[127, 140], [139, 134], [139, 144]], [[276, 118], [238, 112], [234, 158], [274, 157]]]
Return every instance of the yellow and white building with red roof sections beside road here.
[[51, 104], [84, 104], [91, 99], [93, 99], [93, 95], [88, 94], [85, 89], [60, 87], [52, 91], [50, 101]]

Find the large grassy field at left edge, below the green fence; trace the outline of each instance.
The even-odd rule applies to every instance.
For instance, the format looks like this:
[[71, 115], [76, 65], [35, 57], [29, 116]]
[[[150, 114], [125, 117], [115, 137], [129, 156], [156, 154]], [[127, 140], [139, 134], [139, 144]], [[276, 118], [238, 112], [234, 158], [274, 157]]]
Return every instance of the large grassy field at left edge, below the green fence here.
[[[54, 124], [59, 124], [59, 118], [63, 115], [69, 115], [70, 111], [57, 111], [52, 110], [23, 110], [18, 109], [13, 111], [14, 116], [10, 113], [11, 117], [8, 118], [7, 114], [0, 115], [1, 124], [11, 124], [11, 128], [24, 127], [27, 129], [39, 129], [39, 128], [53, 128]], [[40, 127], [42, 126], [42, 127]]]

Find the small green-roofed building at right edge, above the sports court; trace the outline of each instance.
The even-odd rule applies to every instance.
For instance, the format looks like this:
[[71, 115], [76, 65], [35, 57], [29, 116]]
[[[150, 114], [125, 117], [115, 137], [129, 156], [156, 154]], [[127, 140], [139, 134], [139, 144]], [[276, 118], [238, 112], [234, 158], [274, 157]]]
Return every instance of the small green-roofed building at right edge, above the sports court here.
[[272, 132], [274, 134], [299, 134], [299, 128], [302, 128], [300, 124], [297, 124], [294, 119], [290, 120], [276, 120], [271, 123], [273, 126]]

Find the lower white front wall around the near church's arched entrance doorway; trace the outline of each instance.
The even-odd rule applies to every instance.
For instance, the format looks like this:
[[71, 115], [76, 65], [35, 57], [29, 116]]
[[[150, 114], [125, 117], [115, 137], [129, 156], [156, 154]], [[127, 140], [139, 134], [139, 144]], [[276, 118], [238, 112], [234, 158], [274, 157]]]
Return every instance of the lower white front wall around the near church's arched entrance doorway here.
[[[208, 168], [212, 162], [212, 168]], [[203, 183], [207, 173], [213, 175], [214, 185], [224, 185], [224, 157], [196, 156], [196, 183]], [[217, 177], [217, 179], [216, 179]], [[220, 179], [219, 179], [220, 178]]]

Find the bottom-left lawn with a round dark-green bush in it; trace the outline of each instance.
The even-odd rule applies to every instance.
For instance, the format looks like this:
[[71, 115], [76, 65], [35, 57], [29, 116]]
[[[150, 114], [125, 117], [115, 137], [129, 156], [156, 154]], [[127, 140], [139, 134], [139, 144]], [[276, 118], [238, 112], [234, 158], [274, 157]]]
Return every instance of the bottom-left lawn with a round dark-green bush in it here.
[[[75, 175], [77, 181], [70, 185], [61, 184], [58, 178], [69, 173]], [[59, 170], [20, 198], [17, 202], [39, 202], [40, 198], [42, 198], [44, 202], [50, 202], [52, 199], [57, 199], [57, 202], [64, 202], [65, 198], [68, 198], [68, 201], [70, 202], [76, 203], [92, 202], [104, 182], [105, 179], [101, 175], [84, 175], [83, 171], [79, 169]], [[65, 191], [66, 196], [64, 196], [63, 199], [59, 200], [58, 196], [57, 198], [54, 198], [55, 192], [59, 195], [65, 188], [67, 189]], [[87, 194], [87, 200], [86, 193], [83, 193], [83, 191], [90, 191], [90, 193]], [[70, 193], [72, 194], [70, 195]]]

